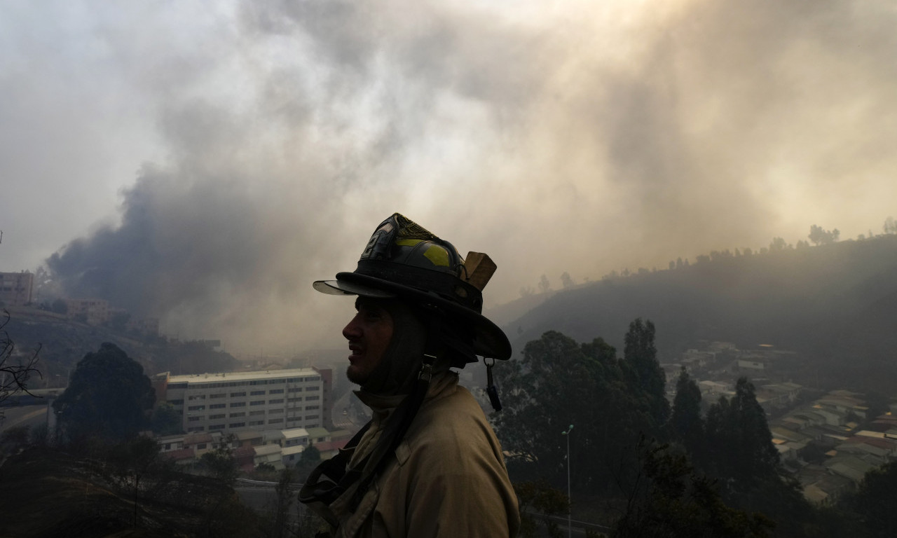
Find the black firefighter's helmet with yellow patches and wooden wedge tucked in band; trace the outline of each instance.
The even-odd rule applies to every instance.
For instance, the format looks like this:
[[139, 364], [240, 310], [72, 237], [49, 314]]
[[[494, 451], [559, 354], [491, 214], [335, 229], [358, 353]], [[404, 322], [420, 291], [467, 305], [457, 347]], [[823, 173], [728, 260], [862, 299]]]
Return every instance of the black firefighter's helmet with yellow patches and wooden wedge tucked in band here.
[[482, 314], [483, 287], [494, 272], [489, 256], [471, 252], [465, 263], [451, 243], [394, 213], [374, 230], [353, 273], [312, 285], [331, 295], [397, 297], [439, 308], [471, 327], [477, 355], [507, 360], [508, 337]]

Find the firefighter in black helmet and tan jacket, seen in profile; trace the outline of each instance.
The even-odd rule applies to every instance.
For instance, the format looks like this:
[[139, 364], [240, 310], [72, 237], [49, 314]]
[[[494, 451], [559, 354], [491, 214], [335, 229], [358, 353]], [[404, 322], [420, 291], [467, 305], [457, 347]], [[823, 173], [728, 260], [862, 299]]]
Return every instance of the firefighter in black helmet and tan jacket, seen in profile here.
[[300, 500], [334, 537], [515, 536], [517, 497], [501, 445], [452, 368], [482, 356], [487, 392], [492, 364], [510, 357], [508, 337], [483, 317], [483, 287], [495, 265], [466, 260], [395, 213], [374, 231], [353, 273], [314, 282], [318, 291], [355, 296], [343, 329], [346, 375], [372, 420], [318, 465]]

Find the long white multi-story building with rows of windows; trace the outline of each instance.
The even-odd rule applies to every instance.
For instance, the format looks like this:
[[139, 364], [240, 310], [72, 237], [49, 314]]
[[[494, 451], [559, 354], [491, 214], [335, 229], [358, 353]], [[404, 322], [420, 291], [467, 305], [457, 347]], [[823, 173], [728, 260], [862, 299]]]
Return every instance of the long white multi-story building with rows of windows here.
[[187, 433], [318, 428], [329, 384], [316, 369], [169, 376], [159, 399], [183, 416]]

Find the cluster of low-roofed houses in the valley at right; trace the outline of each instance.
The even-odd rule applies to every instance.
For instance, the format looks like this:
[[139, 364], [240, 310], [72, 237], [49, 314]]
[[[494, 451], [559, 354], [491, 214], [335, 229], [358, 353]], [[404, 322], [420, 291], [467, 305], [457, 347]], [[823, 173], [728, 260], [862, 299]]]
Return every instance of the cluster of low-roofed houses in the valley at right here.
[[[662, 364], [667, 397], [685, 369], [701, 388], [706, 407], [735, 395], [737, 377], [749, 377], [769, 418], [772, 442], [807, 500], [832, 503], [854, 490], [866, 473], [897, 460], [897, 403], [870, 402], [849, 390], [820, 391], [783, 379], [793, 351], [769, 345], [744, 351], [734, 343], [703, 342], [677, 363]], [[865, 427], [864, 427], [865, 424]]]

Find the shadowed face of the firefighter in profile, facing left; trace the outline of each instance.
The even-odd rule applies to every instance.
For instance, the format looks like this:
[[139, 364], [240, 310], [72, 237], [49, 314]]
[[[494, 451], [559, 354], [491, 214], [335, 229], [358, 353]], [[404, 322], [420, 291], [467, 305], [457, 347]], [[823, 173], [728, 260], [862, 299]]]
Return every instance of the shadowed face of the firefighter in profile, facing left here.
[[386, 354], [393, 336], [393, 318], [378, 299], [359, 297], [355, 309], [355, 317], [343, 329], [352, 351], [345, 374], [353, 383], [364, 385]]

